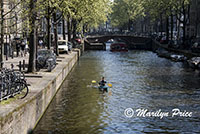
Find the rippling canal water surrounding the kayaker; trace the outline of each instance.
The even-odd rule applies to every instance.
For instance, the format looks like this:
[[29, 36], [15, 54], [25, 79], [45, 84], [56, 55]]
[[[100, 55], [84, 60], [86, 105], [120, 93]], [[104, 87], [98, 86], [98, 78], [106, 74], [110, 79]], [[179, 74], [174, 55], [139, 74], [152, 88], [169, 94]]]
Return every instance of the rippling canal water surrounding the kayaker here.
[[[109, 93], [91, 87], [102, 76], [113, 85]], [[149, 51], [87, 51], [34, 134], [193, 134], [199, 124], [197, 71]]]

